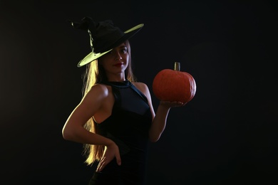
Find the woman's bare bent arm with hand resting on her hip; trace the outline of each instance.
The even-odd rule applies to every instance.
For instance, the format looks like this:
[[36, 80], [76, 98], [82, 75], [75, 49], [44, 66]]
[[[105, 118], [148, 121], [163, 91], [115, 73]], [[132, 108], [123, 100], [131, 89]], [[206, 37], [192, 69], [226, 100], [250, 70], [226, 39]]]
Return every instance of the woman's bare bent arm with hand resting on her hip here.
[[94, 85], [71, 112], [62, 129], [63, 138], [66, 140], [105, 146], [97, 171], [101, 171], [114, 157], [118, 165], [121, 164], [120, 152], [115, 142], [84, 128], [86, 122], [103, 108], [103, 102], [108, 95], [108, 89], [104, 85]]

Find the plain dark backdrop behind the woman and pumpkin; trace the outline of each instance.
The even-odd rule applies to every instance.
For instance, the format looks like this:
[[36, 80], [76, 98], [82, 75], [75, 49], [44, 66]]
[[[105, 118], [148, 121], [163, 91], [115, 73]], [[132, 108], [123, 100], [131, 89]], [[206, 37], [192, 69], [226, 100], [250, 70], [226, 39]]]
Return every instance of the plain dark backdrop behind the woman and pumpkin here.
[[[68, 19], [111, 19], [138, 80], [173, 68], [196, 81], [150, 145], [148, 184], [278, 184], [275, 1], [0, 1], [1, 184], [87, 184], [81, 144], [61, 129], [81, 100], [88, 34]], [[153, 95], [156, 109], [158, 100]]]

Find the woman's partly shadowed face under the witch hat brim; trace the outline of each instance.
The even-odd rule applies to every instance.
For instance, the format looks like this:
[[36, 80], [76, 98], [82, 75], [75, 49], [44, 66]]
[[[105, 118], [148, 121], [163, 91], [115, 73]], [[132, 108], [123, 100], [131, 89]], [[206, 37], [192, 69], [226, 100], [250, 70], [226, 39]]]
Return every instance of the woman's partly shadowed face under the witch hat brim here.
[[122, 43], [99, 58], [99, 62], [103, 65], [108, 79], [114, 75], [123, 75], [123, 78], [125, 78], [125, 69], [129, 63], [128, 48], [125, 46], [125, 43]]

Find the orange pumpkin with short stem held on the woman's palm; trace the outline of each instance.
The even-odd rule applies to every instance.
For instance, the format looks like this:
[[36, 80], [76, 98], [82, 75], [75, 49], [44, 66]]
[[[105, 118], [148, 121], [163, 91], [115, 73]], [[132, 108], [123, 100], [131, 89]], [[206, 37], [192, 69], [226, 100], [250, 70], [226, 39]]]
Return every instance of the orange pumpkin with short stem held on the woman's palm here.
[[190, 73], [180, 71], [180, 63], [174, 70], [164, 69], [153, 79], [153, 93], [159, 100], [187, 103], [195, 96], [196, 83]]

